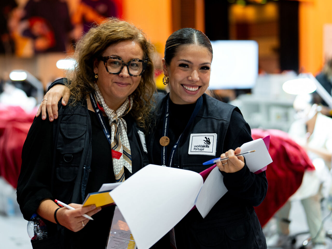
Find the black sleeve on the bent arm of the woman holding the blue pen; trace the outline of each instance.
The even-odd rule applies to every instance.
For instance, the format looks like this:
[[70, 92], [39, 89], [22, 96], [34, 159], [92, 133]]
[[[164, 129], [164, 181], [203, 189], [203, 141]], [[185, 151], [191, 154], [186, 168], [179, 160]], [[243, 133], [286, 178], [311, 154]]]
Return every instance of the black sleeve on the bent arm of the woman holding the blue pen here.
[[[225, 137], [225, 150], [235, 149], [251, 140], [249, 125], [244, 121], [240, 113], [234, 111]], [[268, 188], [265, 171], [254, 174], [250, 172], [245, 164], [237, 172], [221, 173], [224, 184], [230, 194], [247, 201], [252, 206], [258, 206], [264, 200]]]

